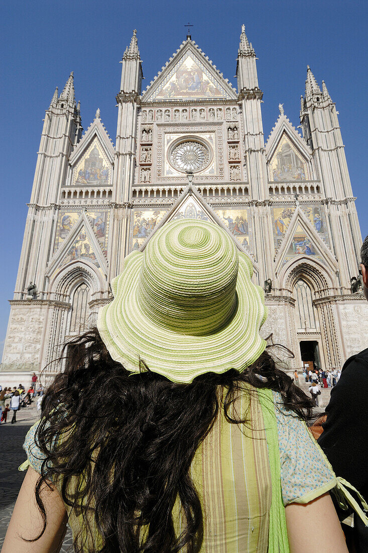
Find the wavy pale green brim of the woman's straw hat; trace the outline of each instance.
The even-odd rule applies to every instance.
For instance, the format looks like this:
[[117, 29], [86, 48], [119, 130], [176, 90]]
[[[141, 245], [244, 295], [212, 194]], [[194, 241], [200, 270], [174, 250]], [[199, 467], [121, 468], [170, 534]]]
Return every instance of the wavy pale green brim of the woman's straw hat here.
[[137, 299], [143, 254], [132, 252], [123, 273], [112, 283], [114, 300], [99, 310], [97, 327], [111, 357], [128, 371], [139, 372], [140, 361], [150, 371], [177, 383], [191, 383], [201, 374], [243, 371], [266, 347], [259, 329], [266, 320], [264, 291], [251, 280], [253, 268], [239, 253], [237, 305], [231, 319], [204, 336], [173, 332], [148, 320]]

